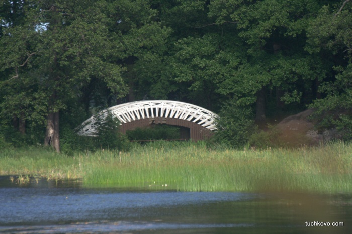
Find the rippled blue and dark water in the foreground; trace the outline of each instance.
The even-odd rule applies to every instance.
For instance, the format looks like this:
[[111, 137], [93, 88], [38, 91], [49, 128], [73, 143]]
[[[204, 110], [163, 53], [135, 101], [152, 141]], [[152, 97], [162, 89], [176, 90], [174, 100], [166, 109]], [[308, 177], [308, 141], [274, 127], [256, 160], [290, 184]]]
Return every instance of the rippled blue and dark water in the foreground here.
[[[350, 194], [86, 189], [8, 181], [0, 178], [0, 233], [352, 233]], [[343, 227], [305, 224], [314, 221]]]

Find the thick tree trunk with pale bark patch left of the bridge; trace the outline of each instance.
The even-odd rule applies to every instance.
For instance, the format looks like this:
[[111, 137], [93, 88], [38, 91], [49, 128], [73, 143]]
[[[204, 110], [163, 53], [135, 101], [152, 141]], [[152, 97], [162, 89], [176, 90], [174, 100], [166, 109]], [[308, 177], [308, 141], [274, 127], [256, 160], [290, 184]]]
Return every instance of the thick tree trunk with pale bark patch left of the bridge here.
[[59, 112], [48, 114], [44, 139], [44, 145], [52, 146], [56, 152], [60, 152], [59, 116]]

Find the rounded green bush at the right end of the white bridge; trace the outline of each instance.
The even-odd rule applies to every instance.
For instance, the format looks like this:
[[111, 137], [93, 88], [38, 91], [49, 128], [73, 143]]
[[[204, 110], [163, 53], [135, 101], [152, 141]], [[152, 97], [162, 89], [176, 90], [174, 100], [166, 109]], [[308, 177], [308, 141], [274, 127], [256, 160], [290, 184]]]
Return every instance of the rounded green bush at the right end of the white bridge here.
[[236, 100], [225, 103], [219, 117], [214, 138], [220, 143], [243, 146], [256, 129], [250, 107], [240, 106]]

